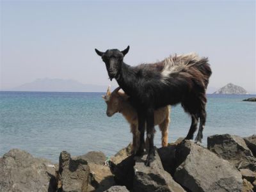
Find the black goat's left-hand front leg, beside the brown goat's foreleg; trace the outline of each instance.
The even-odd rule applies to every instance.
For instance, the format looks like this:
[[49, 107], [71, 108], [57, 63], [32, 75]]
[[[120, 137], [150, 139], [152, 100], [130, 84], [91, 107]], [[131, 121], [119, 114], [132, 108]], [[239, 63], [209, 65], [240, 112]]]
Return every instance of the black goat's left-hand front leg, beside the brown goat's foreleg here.
[[145, 147], [145, 140], [144, 140], [144, 134], [145, 134], [145, 115], [143, 112], [138, 111], [138, 130], [140, 132], [140, 146], [138, 150], [136, 151], [136, 156], [142, 156], [144, 152]]

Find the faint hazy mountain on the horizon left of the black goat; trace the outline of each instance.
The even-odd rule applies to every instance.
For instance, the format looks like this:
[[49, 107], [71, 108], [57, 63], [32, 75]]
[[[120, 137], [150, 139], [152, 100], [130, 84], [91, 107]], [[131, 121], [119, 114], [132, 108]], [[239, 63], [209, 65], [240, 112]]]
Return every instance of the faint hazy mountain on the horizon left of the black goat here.
[[74, 79], [36, 79], [8, 91], [17, 92], [106, 92], [107, 86], [83, 84]]

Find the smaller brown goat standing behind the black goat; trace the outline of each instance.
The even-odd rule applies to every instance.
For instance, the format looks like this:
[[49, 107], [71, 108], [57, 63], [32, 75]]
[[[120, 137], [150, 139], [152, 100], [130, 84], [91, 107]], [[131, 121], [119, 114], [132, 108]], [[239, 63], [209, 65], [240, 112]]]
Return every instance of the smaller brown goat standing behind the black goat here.
[[[124, 92], [118, 92], [120, 87], [116, 88], [112, 93], [108, 87], [106, 95], [103, 95], [103, 99], [107, 104], [106, 114], [113, 116], [115, 113], [122, 113], [127, 122], [130, 124], [132, 132], [132, 152], [138, 150], [140, 145], [140, 132], [138, 131], [138, 114], [136, 110], [131, 106], [128, 95]], [[170, 106], [156, 109], [154, 113], [154, 124], [159, 125], [159, 129], [162, 132], [162, 146], [168, 145], [168, 126], [170, 123]], [[154, 133], [156, 130], [154, 129]], [[148, 146], [148, 140], [146, 140], [146, 146]], [[148, 147], [147, 147], [148, 148]]]

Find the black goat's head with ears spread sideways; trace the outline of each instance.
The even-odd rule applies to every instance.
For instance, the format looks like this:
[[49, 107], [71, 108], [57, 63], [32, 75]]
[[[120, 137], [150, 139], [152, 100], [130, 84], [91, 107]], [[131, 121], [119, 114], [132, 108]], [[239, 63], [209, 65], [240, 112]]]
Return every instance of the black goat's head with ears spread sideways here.
[[130, 47], [128, 46], [126, 49], [124, 49], [124, 51], [119, 51], [118, 49], [108, 49], [106, 52], [101, 52], [98, 49], [95, 49], [97, 54], [101, 56], [102, 60], [106, 64], [108, 76], [111, 81], [113, 78], [118, 76], [124, 56], [129, 51], [129, 48]]

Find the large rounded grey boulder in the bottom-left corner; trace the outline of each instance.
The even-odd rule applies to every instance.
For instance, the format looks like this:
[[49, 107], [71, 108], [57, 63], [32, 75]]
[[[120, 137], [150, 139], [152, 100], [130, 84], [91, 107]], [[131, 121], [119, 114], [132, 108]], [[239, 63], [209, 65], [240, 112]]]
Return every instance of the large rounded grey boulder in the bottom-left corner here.
[[54, 165], [12, 149], [0, 158], [0, 191], [56, 191]]

